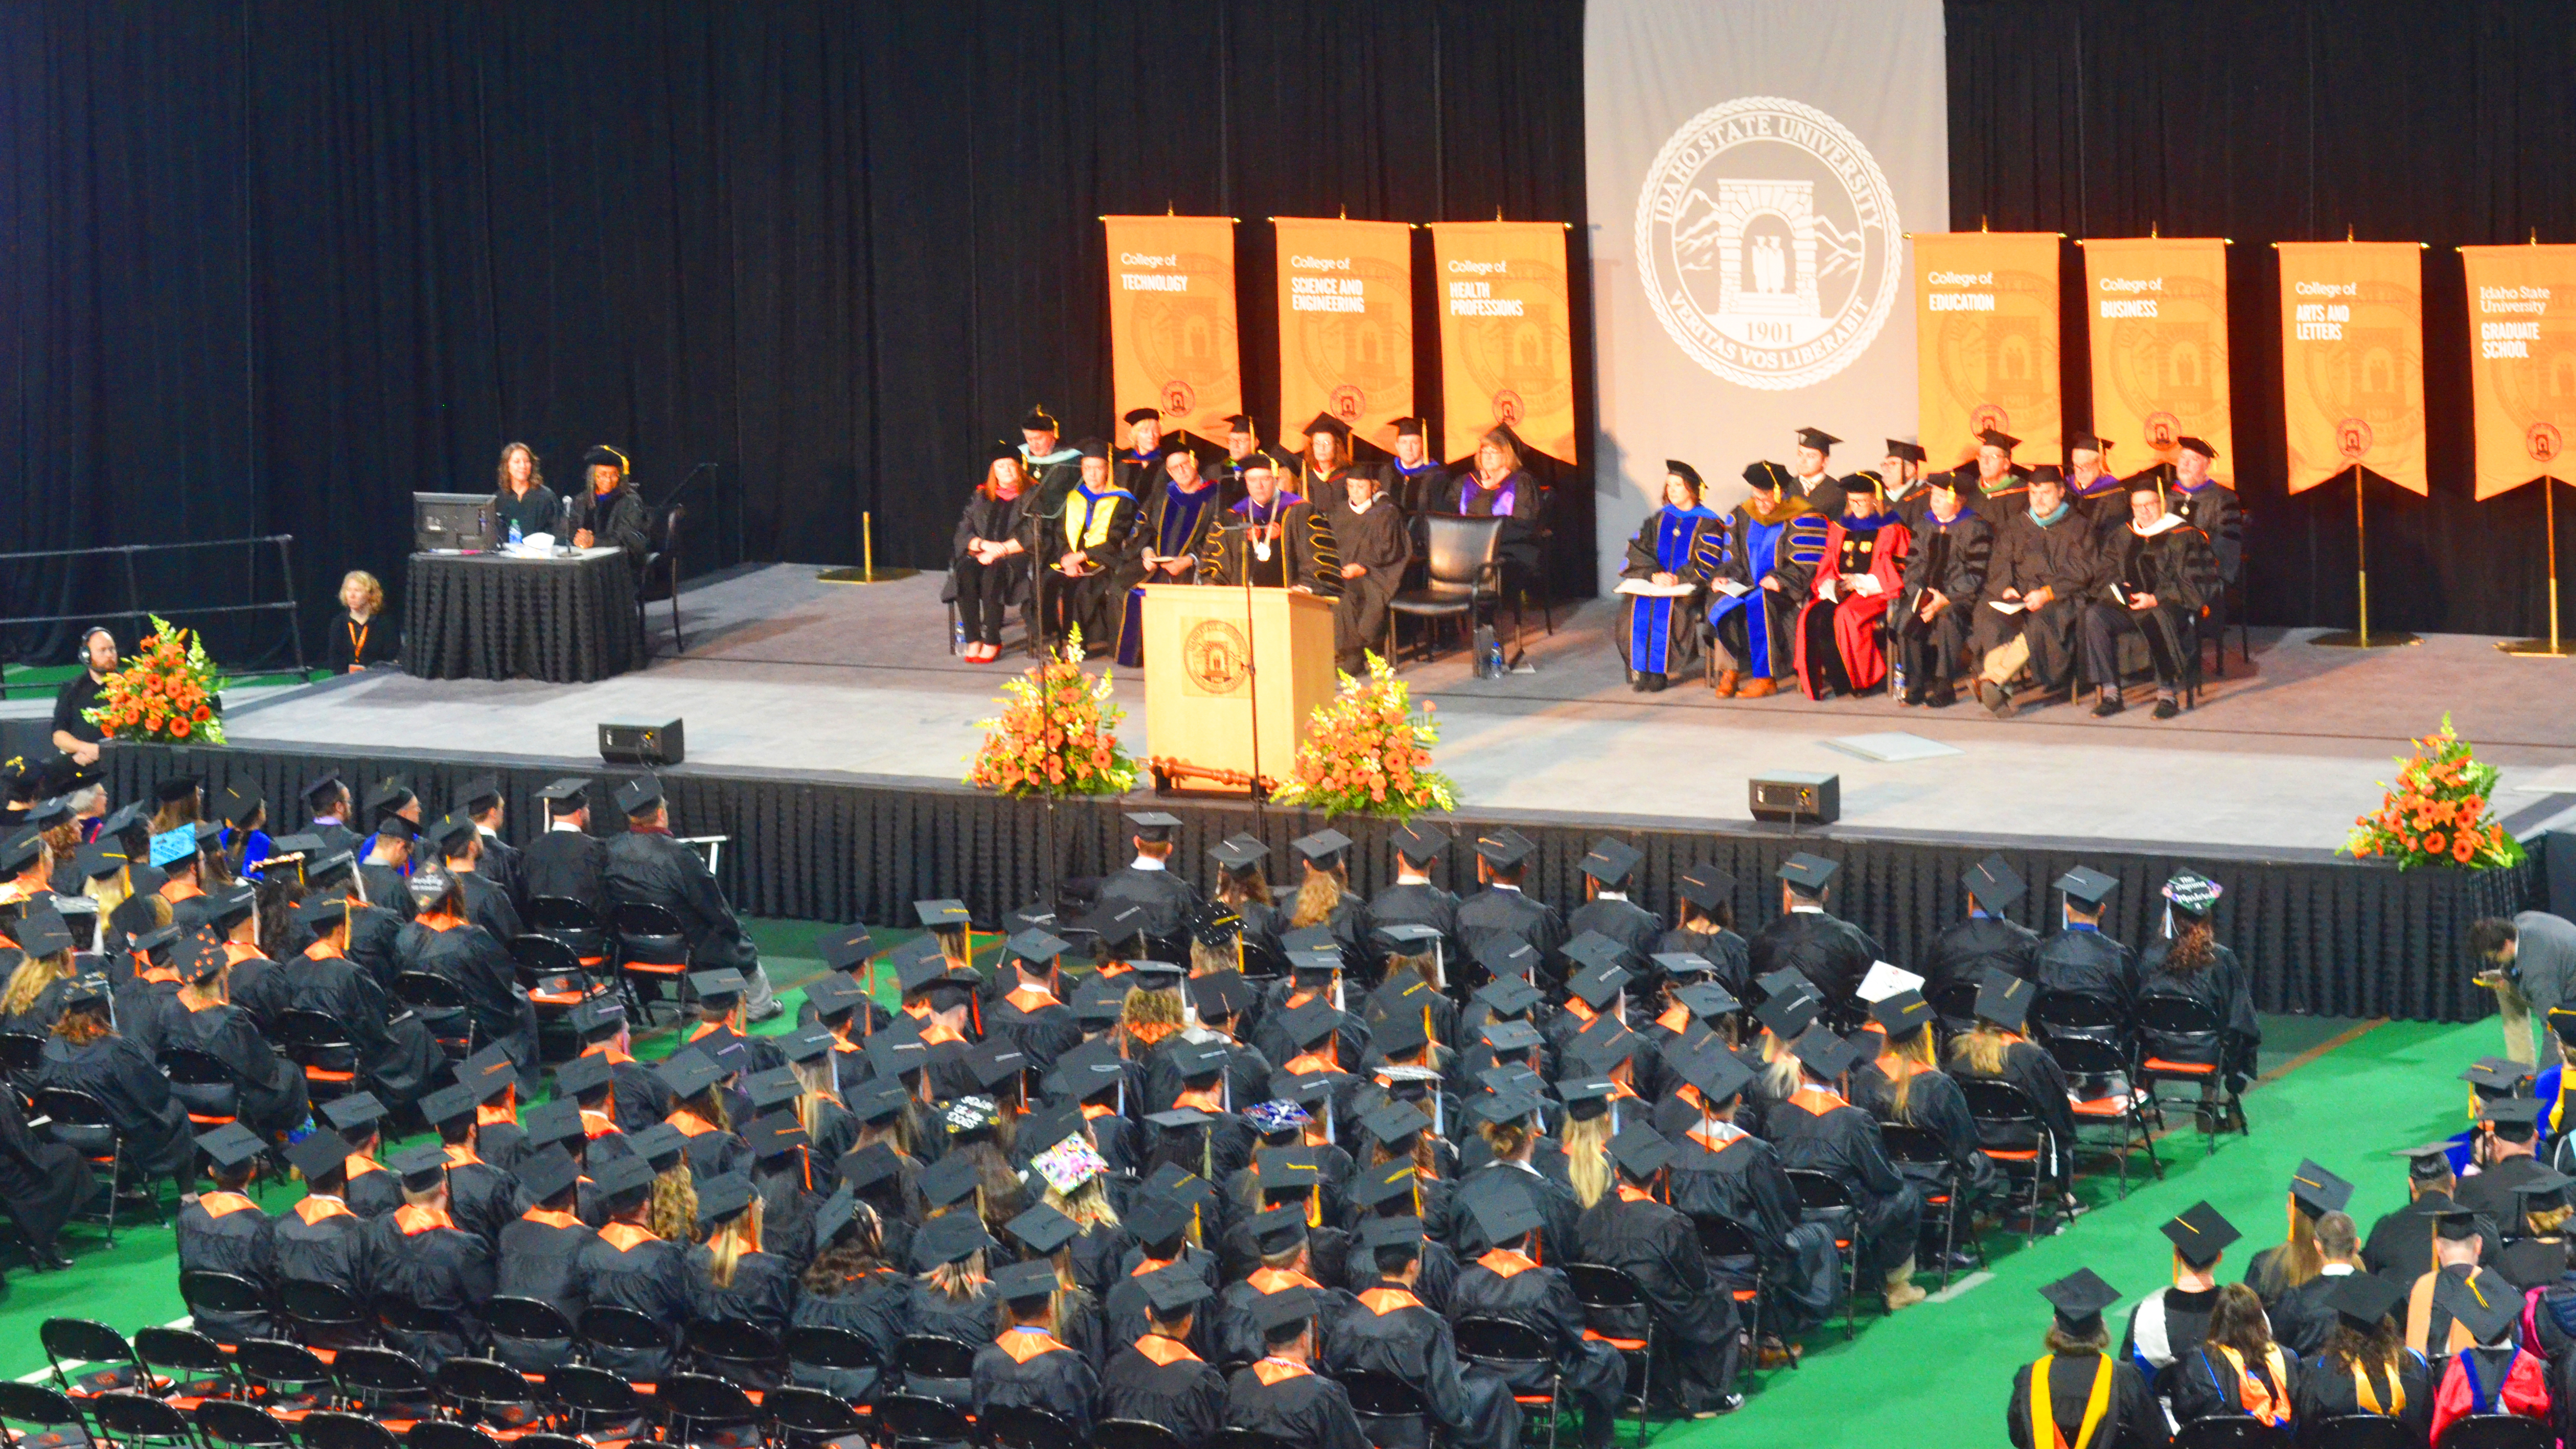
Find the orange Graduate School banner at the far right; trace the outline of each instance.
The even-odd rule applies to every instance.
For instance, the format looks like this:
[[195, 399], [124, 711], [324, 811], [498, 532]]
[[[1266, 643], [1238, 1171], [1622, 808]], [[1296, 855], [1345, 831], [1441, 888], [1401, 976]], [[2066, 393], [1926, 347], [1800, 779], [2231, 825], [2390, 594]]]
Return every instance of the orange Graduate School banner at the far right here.
[[2460, 248], [2460, 266], [2478, 498], [2576, 477], [2558, 462], [2576, 436], [2576, 248]]

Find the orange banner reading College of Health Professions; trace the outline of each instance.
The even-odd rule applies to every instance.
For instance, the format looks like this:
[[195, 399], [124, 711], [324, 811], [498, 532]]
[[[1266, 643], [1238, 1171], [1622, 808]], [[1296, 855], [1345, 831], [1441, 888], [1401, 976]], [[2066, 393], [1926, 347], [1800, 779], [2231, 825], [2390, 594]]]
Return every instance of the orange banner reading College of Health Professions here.
[[1440, 286], [1440, 456], [1494, 423], [1574, 462], [1574, 327], [1561, 222], [1432, 222]]

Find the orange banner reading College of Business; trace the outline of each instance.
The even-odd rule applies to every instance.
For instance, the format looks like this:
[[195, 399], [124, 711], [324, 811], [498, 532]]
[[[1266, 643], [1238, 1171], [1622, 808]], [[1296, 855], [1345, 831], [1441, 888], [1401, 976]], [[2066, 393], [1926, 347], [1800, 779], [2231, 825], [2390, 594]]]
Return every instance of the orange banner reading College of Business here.
[[2094, 433], [2115, 474], [2174, 462], [2182, 438], [2218, 449], [2210, 480], [2236, 487], [2228, 407], [2228, 245], [2218, 237], [2084, 242]]

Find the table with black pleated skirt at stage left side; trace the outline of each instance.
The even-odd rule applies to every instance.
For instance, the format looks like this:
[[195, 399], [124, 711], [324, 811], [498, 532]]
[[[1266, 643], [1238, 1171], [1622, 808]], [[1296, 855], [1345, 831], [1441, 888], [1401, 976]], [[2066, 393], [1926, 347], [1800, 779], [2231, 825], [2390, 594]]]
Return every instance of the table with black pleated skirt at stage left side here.
[[412, 554], [402, 673], [587, 683], [644, 668], [623, 549]]

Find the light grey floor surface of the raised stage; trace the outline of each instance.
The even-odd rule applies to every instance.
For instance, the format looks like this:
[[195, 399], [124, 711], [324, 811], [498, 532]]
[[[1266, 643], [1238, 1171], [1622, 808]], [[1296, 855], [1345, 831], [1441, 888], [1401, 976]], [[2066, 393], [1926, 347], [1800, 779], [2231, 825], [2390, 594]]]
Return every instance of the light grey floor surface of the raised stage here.
[[[1025, 655], [948, 655], [940, 575], [829, 585], [768, 565], [688, 588], [688, 652], [652, 611], [652, 668], [590, 686], [337, 678], [242, 699], [237, 745], [350, 745], [598, 771], [600, 719], [685, 719], [685, 768], [817, 771], [956, 781]], [[1878, 833], [2007, 835], [2318, 853], [2375, 807], [2391, 755], [2442, 712], [2504, 766], [2499, 810], [2532, 828], [2576, 807], [2576, 663], [2517, 660], [2445, 634], [2398, 650], [2318, 650], [2311, 629], [2254, 632], [2200, 709], [2156, 722], [2143, 706], [2092, 719], [2074, 706], [1994, 719], [1976, 704], [1899, 709], [1886, 696], [1721, 701], [1698, 683], [1641, 696], [1620, 678], [1610, 601], [1530, 616], [1535, 673], [1479, 681], [1463, 652], [1406, 665], [1437, 704], [1437, 763], [1466, 804], [1584, 817], [1747, 820], [1749, 773], [1842, 776], [1842, 820]], [[1095, 665], [1097, 668], [1097, 665]], [[1123, 737], [1146, 753], [1141, 688], [1121, 683]], [[13, 714], [18, 706], [10, 709]], [[1906, 732], [1942, 753], [1901, 763], [1832, 740]], [[582, 766], [587, 761], [587, 766]], [[2563, 794], [2558, 794], [2563, 792]]]

